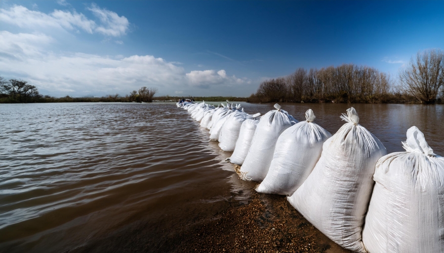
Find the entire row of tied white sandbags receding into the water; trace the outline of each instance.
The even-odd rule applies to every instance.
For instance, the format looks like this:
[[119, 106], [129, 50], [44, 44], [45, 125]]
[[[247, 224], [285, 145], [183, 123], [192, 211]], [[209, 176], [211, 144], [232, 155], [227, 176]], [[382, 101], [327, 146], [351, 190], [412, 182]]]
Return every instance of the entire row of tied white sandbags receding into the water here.
[[358, 253], [444, 253], [444, 158], [412, 126], [405, 152], [387, 154], [355, 108], [331, 135], [309, 109], [298, 122], [275, 104], [264, 116], [241, 105], [177, 104], [210, 130], [242, 180], [286, 195], [316, 228]]

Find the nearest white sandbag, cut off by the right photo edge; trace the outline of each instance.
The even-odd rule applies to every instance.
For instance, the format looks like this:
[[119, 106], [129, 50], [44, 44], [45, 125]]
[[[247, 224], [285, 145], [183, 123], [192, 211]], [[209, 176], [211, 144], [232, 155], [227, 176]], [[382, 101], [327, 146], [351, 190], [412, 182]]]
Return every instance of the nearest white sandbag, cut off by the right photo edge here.
[[443, 253], [444, 158], [416, 126], [403, 144], [376, 164], [363, 243], [369, 253]]

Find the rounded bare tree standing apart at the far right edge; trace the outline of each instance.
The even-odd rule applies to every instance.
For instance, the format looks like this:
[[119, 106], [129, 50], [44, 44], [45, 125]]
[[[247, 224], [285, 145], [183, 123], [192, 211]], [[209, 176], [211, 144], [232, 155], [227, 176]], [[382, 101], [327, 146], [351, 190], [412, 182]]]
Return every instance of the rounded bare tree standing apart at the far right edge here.
[[418, 52], [400, 71], [400, 81], [416, 99], [434, 103], [444, 85], [444, 52], [440, 49]]

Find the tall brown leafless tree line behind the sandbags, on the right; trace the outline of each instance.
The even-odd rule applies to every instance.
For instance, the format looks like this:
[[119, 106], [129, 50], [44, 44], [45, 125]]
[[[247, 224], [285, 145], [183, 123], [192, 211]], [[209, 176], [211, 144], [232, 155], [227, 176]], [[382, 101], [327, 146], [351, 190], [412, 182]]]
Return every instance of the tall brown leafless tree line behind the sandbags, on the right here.
[[263, 81], [249, 102], [399, 103], [444, 102], [444, 52], [418, 52], [400, 71], [400, 83], [376, 68], [342, 64], [321, 69], [298, 68]]

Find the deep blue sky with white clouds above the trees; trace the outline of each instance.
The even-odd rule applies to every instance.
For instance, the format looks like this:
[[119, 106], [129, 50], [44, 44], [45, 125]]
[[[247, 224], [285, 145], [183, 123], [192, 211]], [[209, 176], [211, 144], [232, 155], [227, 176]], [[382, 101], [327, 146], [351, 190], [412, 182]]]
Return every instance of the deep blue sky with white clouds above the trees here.
[[0, 75], [54, 96], [248, 96], [298, 67], [373, 66], [394, 80], [444, 49], [444, 1], [0, 2]]

